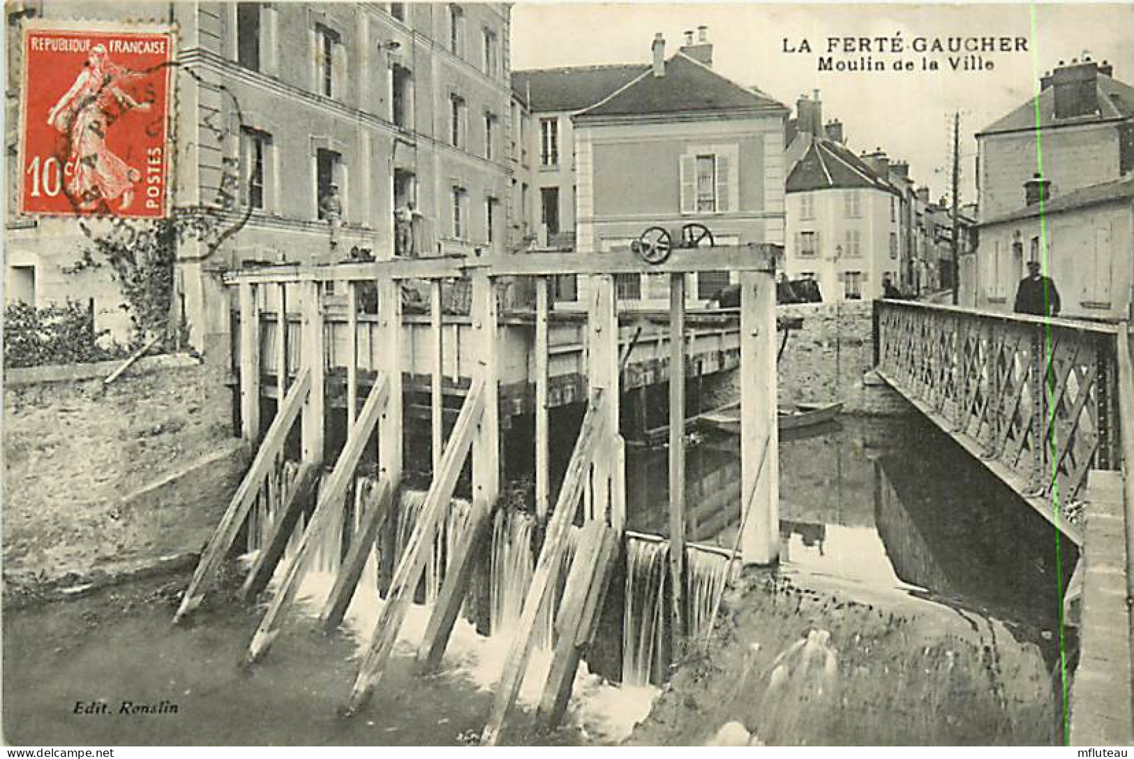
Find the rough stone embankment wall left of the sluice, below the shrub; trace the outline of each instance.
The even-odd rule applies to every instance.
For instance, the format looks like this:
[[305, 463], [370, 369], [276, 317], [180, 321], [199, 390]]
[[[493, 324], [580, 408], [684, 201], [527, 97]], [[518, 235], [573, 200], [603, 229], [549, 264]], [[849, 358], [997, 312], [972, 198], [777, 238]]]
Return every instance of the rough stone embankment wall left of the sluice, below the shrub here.
[[209, 365], [6, 386], [6, 599], [198, 550], [246, 462], [231, 414]]

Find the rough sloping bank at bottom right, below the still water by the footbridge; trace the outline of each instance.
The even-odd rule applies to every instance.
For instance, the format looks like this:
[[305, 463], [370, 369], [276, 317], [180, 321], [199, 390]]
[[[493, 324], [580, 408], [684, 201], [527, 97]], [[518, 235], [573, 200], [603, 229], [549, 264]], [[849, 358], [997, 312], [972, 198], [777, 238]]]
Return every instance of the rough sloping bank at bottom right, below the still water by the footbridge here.
[[704, 745], [738, 723], [725, 743], [1050, 745], [1048, 665], [1017, 635], [898, 593], [852, 601], [746, 573], [708, 652], [677, 668], [631, 742]]

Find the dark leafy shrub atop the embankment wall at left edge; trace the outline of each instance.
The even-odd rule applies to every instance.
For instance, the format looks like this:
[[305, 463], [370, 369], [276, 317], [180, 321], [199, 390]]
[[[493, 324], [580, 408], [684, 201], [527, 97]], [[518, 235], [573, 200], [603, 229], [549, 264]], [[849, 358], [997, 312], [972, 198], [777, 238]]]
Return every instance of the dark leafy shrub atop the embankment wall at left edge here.
[[[5, 309], [3, 364], [9, 369], [46, 364], [90, 363], [126, 355], [126, 348], [102, 340], [91, 310], [74, 301], [43, 309], [12, 303]], [[102, 340], [102, 345], [100, 345]]]

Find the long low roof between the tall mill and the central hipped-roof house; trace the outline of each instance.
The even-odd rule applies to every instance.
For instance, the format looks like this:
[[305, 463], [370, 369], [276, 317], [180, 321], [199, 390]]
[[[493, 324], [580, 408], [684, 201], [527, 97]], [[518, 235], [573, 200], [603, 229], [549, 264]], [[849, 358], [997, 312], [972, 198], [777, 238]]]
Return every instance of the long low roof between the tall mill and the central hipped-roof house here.
[[649, 66], [619, 64], [613, 66], [569, 66], [533, 68], [511, 73], [511, 88], [533, 111], [578, 111], [595, 104]]

